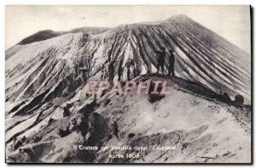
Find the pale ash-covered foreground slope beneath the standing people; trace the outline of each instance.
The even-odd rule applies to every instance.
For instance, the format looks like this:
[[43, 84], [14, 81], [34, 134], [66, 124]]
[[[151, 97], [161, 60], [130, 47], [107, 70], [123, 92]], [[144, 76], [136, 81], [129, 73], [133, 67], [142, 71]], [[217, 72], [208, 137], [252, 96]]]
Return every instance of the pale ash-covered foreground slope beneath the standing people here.
[[[7, 143], [10, 151], [7, 160], [101, 163], [250, 161], [250, 111], [208, 98], [206, 93], [212, 91], [181, 78], [149, 75], [137, 81], [163, 79], [171, 93], [154, 102], [149, 101], [150, 96], [132, 94], [133, 91], [128, 95], [106, 92], [95, 100], [83, 93], [84, 87], [70, 101], [59, 100], [62, 105], [70, 104], [71, 115], [62, 117], [61, 107], [55, 101], [45, 105], [48, 107], [35, 110], [29, 120], [19, 118], [22, 119], [20, 123], [11, 128], [7, 126], [6, 137], [17, 135], [16, 142], [25, 137], [24, 142]], [[196, 90], [201, 90], [201, 93], [195, 93]], [[8, 123], [14, 123], [14, 120], [8, 120]], [[118, 137], [113, 131], [115, 124], [119, 127]], [[97, 146], [98, 149], [89, 151], [80, 146]], [[127, 146], [132, 149], [112, 148]], [[159, 149], [143, 149], [150, 146]], [[162, 150], [161, 147], [172, 148]], [[111, 158], [109, 154], [136, 154], [137, 158]]]

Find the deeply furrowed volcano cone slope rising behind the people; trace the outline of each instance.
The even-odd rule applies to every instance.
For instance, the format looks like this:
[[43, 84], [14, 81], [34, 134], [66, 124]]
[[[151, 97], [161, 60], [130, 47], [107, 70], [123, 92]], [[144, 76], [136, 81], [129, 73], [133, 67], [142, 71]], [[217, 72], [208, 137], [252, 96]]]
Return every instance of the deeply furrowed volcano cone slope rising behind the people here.
[[[177, 76], [201, 82], [215, 92], [228, 92], [232, 97], [241, 94], [250, 103], [250, 57], [247, 53], [183, 15], [160, 25], [122, 25], [99, 35], [68, 33], [10, 48], [6, 52], [7, 58], [13, 57], [6, 60], [7, 95], [19, 100], [42, 93], [42, 87], [36, 87], [37, 80], [26, 78], [32, 78], [36, 72], [38, 76], [41, 74], [38, 80], [45, 81], [43, 76], [48, 73], [47, 70], [51, 74], [65, 71], [61, 64], [68, 67], [68, 73], [72, 74], [70, 76], [78, 76], [79, 70], [73, 73], [74, 68], [83, 69], [85, 60], [90, 62], [90, 67], [86, 67], [88, 63], [85, 66], [91, 72], [90, 76], [107, 67], [110, 80], [117, 74], [119, 64], [124, 66], [128, 57], [135, 60], [139, 74], [155, 72], [157, 50], [161, 47], [166, 50], [175, 48]], [[46, 61], [48, 67], [43, 69]], [[32, 66], [35, 68], [34, 73], [30, 68]], [[44, 82], [44, 90], [53, 87], [59, 80], [55, 77], [49, 79], [49, 76], [48, 81]], [[27, 96], [27, 92], [21, 92], [24, 86], [33, 86]]]

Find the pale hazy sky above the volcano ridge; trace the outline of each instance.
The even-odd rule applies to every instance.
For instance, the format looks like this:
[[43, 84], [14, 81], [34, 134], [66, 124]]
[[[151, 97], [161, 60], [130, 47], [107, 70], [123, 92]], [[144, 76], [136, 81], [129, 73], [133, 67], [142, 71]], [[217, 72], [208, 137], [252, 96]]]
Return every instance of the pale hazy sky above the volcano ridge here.
[[6, 6], [5, 14], [5, 48], [46, 29], [114, 27], [186, 14], [250, 53], [249, 6]]

